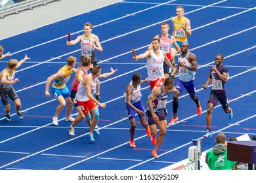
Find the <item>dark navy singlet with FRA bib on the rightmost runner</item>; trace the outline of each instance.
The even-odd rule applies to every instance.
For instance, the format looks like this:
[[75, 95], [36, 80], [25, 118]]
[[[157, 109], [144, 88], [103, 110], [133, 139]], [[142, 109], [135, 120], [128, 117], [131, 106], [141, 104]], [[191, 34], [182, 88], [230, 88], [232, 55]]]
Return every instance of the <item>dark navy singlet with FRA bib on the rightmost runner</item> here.
[[[217, 68], [219, 73], [227, 73], [228, 74], [228, 68], [226, 65], [221, 65], [221, 67]], [[217, 73], [211, 69], [211, 78], [212, 78], [212, 86], [211, 90], [216, 93], [221, 93], [224, 90], [224, 82], [219, 78]]]

